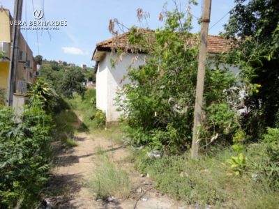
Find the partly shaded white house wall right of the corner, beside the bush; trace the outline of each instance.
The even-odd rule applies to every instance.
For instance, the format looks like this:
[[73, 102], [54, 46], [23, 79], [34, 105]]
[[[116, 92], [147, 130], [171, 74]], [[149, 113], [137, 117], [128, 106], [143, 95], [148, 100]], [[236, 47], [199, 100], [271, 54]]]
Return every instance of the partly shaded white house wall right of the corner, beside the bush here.
[[122, 61], [115, 64], [115, 68], [112, 68], [110, 64], [110, 58], [116, 58], [116, 55], [112, 55], [110, 52], [107, 52], [105, 57], [105, 64], [107, 65], [107, 121], [118, 121], [121, 112], [116, 111], [117, 107], [115, 104], [116, 92], [123, 87], [123, 84], [129, 82], [128, 79], [124, 79], [124, 75], [127, 75], [127, 70], [131, 66], [133, 68], [138, 68], [140, 65], [144, 65], [144, 59], [148, 55], [142, 54], [140, 57], [132, 63], [135, 58], [135, 54], [127, 54], [123, 56]]

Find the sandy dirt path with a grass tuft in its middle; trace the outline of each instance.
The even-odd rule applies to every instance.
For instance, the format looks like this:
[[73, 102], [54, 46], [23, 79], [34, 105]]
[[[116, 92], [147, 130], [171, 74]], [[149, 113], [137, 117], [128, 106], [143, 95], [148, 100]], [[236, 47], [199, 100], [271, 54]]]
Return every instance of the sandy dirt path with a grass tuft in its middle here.
[[[78, 133], [76, 135], [78, 146], [68, 151], [61, 151], [56, 157], [56, 167], [52, 171], [47, 200], [55, 208], [135, 208], [138, 209], [167, 209], [185, 208], [181, 203], [161, 195], [152, 188], [151, 180], [142, 177], [133, 169], [130, 162], [124, 159], [129, 151], [123, 145], [113, 144], [112, 141], [93, 134]], [[128, 199], [113, 199], [101, 201], [94, 198], [86, 188], [86, 180], [90, 178], [96, 168], [98, 156], [96, 149], [103, 148], [113, 156], [116, 163], [122, 163], [121, 168], [126, 169], [133, 181], [133, 190]], [[121, 189], [121, 188], [119, 188]]]

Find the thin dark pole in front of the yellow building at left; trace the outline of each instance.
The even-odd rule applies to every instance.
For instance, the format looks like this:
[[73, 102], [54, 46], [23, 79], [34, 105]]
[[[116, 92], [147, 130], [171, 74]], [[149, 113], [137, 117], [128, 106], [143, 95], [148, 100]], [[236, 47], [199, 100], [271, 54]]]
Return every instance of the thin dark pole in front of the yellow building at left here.
[[8, 78], [8, 95], [7, 105], [12, 106], [13, 104], [13, 93], [16, 88], [16, 77], [17, 77], [17, 58], [18, 58], [18, 45], [20, 39], [20, 26], [15, 24], [17, 21], [22, 20], [22, 0], [15, 0], [15, 8], [13, 11], [13, 35], [10, 50], [10, 69]]

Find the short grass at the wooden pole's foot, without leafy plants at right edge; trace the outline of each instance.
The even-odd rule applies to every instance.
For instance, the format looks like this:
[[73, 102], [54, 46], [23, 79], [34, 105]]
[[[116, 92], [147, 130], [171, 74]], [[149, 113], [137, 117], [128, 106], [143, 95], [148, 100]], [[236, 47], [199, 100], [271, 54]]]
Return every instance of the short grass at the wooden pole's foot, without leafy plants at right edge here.
[[232, 155], [230, 148], [214, 148], [198, 161], [188, 154], [152, 159], [140, 150], [134, 160], [140, 173], [149, 173], [155, 187], [174, 199], [217, 208], [277, 208], [279, 194], [264, 180], [252, 180], [251, 173], [230, 175], [227, 159]]

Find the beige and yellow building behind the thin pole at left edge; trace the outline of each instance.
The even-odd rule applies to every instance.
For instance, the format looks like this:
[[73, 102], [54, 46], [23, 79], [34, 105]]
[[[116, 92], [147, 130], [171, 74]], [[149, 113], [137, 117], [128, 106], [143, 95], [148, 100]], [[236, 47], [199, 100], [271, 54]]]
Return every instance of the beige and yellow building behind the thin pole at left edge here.
[[[10, 11], [5, 8], [0, 8], [0, 52], [5, 53], [5, 58], [0, 59], [0, 90], [7, 91], [8, 77], [10, 68], [10, 49], [12, 42], [13, 26], [10, 22], [13, 17]], [[19, 38], [19, 54], [17, 62], [16, 73], [16, 91], [17, 93], [26, 93], [25, 88], [27, 83], [33, 83], [36, 77], [36, 62], [33, 59], [33, 52], [31, 51], [26, 40], [20, 33]], [[23, 92], [22, 92], [23, 91]]]

